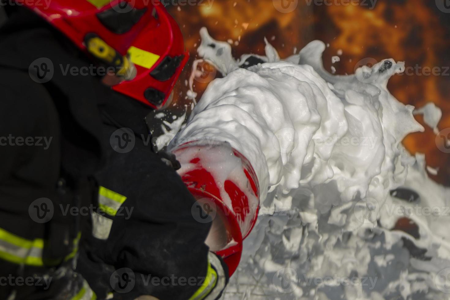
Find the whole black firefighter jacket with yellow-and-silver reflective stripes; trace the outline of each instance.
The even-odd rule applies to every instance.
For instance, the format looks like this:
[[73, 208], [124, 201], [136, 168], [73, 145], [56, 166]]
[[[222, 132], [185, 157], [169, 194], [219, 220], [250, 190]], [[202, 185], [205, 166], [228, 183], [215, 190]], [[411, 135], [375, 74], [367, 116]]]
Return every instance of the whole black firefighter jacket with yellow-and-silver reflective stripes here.
[[[53, 281], [49, 289], [37, 284], [1, 287], [2, 296], [15, 291], [16, 299], [59, 299], [61, 294], [71, 299], [66, 290], [74, 288], [67, 285], [83, 287], [80, 292], [89, 289], [85, 282], [70, 282], [75, 276], [68, 278], [67, 274], [72, 274], [75, 265], [99, 299], [104, 291], [113, 292], [114, 299], [220, 296], [227, 280], [226, 266], [204, 245], [209, 224], [193, 219], [194, 200], [180, 177], [144, 145], [141, 134], [147, 132], [143, 121], [147, 111], [135, 100], [101, 85], [98, 77], [64, 73], [67, 67], [90, 67], [90, 60], [34, 14], [25, 9], [19, 12], [0, 31], [4, 93], [0, 137], [12, 133], [54, 139], [45, 150], [0, 147], [0, 228], [4, 230], [0, 242], [1, 237], [14, 246], [22, 242], [26, 249], [16, 248], [20, 250], [16, 253], [31, 255], [31, 259], [25, 255], [13, 262], [9, 253], [3, 253], [0, 272], [6, 276], [50, 273]], [[47, 70], [53, 70], [49, 81]], [[114, 150], [125, 145], [128, 138], [123, 134], [130, 134], [121, 132], [122, 127], [135, 134], [135, 147], [126, 153]], [[108, 163], [95, 176], [95, 184], [101, 187], [93, 188], [90, 175], [101, 166], [103, 149]], [[39, 216], [49, 208], [41, 198], [53, 204], [54, 214], [45, 223], [39, 223]], [[33, 203], [36, 199], [40, 202]], [[67, 205], [91, 204], [111, 215], [67, 213]], [[128, 208], [128, 214], [122, 208]], [[40, 213], [38, 222], [31, 218], [33, 210]], [[77, 257], [80, 231], [80, 258], [75, 264], [72, 259]], [[44, 263], [28, 265], [30, 261], [36, 264], [33, 255], [41, 244]], [[64, 263], [70, 266], [60, 268]], [[130, 278], [135, 279], [134, 285], [126, 284]], [[90, 299], [90, 295], [77, 294], [76, 299]]]

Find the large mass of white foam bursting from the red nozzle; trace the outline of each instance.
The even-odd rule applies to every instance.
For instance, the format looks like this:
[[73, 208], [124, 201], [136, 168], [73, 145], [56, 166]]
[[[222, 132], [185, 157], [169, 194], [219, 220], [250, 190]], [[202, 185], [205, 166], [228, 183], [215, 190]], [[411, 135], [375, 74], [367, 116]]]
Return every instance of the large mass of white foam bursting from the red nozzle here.
[[[419, 226], [417, 239], [392, 231], [401, 217], [392, 207], [408, 206], [392, 189], [414, 188], [421, 206], [450, 204], [449, 189], [428, 178], [423, 157], [401, 145], [407, 134], [424, 130], [414, 107], [387, 90], [404, 63], [385, 59], [355, 75], [333, 76], [322, 64], [324, 43], [313, 41], [278, 61], [266, 40], [266, 56], [256, 56], [264, 63], [244, 70], [250, 54], [235, 60], [228, 43], [204, 28], [201, 35], [199, 55], [226, 76], [208, 85], [177, 137], [230, 143], [251, 162], [261, 189], [260, 216], [225, 299], [382, 300], [421, 291], [445, 299], [435, 276], [450, 266], [448, 218], [409, 216]], [[410, 258], [402, 238], [432, 259]], [[285, 268], [297, 272], [293, 291], [277, 283]], [[307, 284], [351, 274], [370, 276], [373, 287]]]

